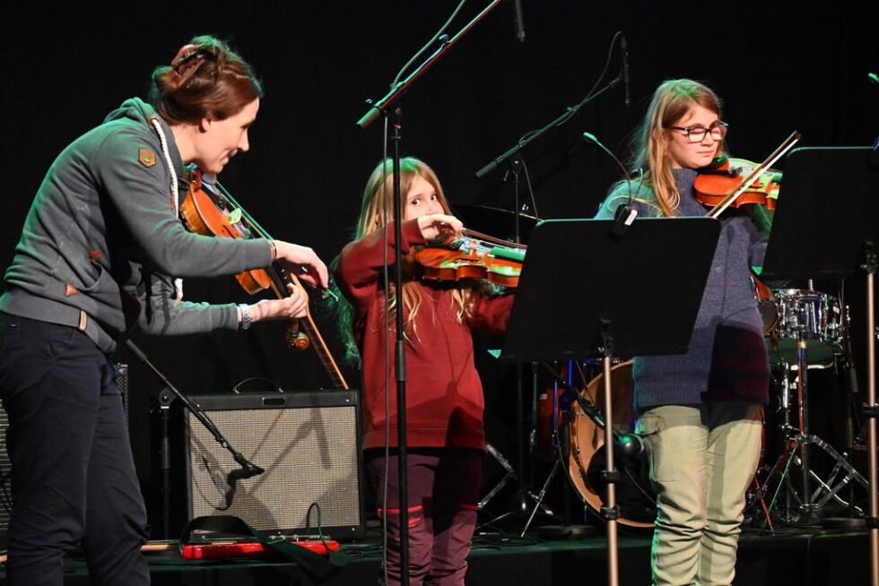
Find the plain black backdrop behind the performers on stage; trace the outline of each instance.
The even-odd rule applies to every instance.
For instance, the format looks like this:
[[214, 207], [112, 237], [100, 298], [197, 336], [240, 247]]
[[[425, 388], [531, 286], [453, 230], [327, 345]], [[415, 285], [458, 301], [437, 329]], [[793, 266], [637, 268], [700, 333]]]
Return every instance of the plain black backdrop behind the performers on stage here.
[[[620, 172], [580, 134], [596, 134], [627, 156], [631, 129], [666, 78], [692, 77], [718, 91], [727, 102], [728, 143], [738, 157], [761, 160], [795, 129], [804, 146], [867, 145], [879, 134], [879, 86], [866, 77], [879, 70], [875, 0], [822, 4], [811, 12], [801, 3], [768, 2], [523, 4], [525, 43], [515, 40], [512, 4], [504, 2], [402, 102], [404, 153], [431, 163], [453, 203], [511, 207], [504, 169], [481, 180], [475, 170], [579, 102], [596, 82], [616, 30], [629, 41], [631, 108], [623, 106], [621, 89], [609, 91], [527, 148], [543, 218], [594, 213]], [[233, 159], [222, 182], [274, 237], [313, 246], [328, 262], [349, 238], [362, 186], [381, 156], [380, 121], [365, 130], [355, 125], [366, 111], [364, 100], [386, 93], [399, 68], [456, 5], [20, 4], [22, 16], [6, 13], [0, 24], [0, 261], [11, 259], [31, 198], [67, 142], [99, 124], [122, 99], [144, 95], [152, 67], [169, 62], [191, 36], [213, 33], [231, 40], [266, 89], [251, 151]], [[483, 5], [471, 0], [449, 31]], [[617, 53], [607, 79], [619, 67]], [[248, 300], [231, 278], [187, 280], [186, 291], [193, 300]], [[289, 390], [326, 384], [311, 353], [283, 348], [282, 332], [280, 324], [260, 324], [242, 334], [137, 341], [185, 392], [225, 392], [251, 376]], [[152, 490], [152, 448], [145, 437], [154, 417], [148, 409], [161, 385], [125, 350], [118, 358], [131, 364], [135, 459]], [[499, 436], [509, 437], [514, 427], [513, 394], [507, 384], [494, 382], [504, 377], [491, 359], [480, 356], [479, 363], [489, 389], [490, 424], [500, 420], [494, 431], [490, 425], [489, 439], [503, 444]]]

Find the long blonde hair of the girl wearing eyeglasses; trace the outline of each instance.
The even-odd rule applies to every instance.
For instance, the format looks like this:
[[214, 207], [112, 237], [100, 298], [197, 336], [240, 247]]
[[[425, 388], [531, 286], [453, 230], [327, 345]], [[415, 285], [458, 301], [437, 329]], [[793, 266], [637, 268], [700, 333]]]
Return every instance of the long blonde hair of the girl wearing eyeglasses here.
[[[646, 169], [641, 183], [653, 189], [664, 216], [674, 216], [681, 203], [681, 194], [674, 184], [672, 159], [666, 149], [666, 129], [685, 116], [693, 104], [721, 117], [723, 102], [708, 86], [687, 79], [666, 80], [653, 93], [647, 115], [632, 141], [631, 168]], [[724, 151], [721, 140], [718, 155]]]

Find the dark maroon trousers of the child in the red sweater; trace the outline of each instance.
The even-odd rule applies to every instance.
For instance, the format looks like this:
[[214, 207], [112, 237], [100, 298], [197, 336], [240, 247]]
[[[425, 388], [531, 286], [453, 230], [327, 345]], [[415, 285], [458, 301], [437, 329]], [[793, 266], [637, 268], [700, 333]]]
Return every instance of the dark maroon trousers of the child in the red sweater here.
[[[387, 522], [387, 583], [399, 584], [399, 458], [392, 452], [387, 472], [384, 450], [369, 450], [365, 458], [379, 515]], [[481, 450], [415, 448], [406, 454], [409, 581], [413, 586], [464, 584], [482, 468]], [[387, 508], [381, 509], [386, 476]]]

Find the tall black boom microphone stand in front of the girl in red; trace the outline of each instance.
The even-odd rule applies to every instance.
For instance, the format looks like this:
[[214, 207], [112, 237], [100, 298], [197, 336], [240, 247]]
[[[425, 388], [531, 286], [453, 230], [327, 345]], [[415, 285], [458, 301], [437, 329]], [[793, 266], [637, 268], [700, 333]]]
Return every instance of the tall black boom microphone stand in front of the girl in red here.
[[[483, 8], [474, 19], [468, 22], [463, 29], [451, 39], [441, 38], [439, 48], [427, 58], [422, 65], [419, 65], [413, 73], [402, 82], [397, 83], [378, 102], [368, 101], [370, 109], [366, 114], [361, 116], [357, 121], [357, 125], [366, 128], [370, 125], [379, 114], [390, 116], [390, 122], [393, 127], [391, 134], [391, 142], [393, 143], [393, 192], [394, 192], [394, 283], [398, 295], [402, 295], [403, 291], [403, 252], [401, 240], [403, 237], [403, 228], [401, 226], [403, 220], [403, 202], [400, 196], [400, 142], [402, 138], [402, 108], [396, 104], [400, 96], [405, 90], [413, 84], [415, 80], [422, 76], [439, 57], [453, 47], [461, 37], [471, 30], [477, 22], [483, 20], [486, 14], [490, 13], [501, 0], [492, 0], [492, 2]], [[393, 111], [389, 108], [393, 107]], [[384, 163], [383, 163], [384, 164]], [[387, 229], [387, 228], [386, 228]], [[400, 582], [403, 586], [409, 584], [409, 481], [406, 470], [407, 451], [406, 451], [406, 367], [405, 367], [405, 337], [402, 305], [397, 306], [396, 311], [396, 340], [395, 340], [395, 372], [396, 372], [396, 417], [397, 417], [397, 445], [398, 445], [398, 484], [399, 484], [399, 508], [400, 508]]]

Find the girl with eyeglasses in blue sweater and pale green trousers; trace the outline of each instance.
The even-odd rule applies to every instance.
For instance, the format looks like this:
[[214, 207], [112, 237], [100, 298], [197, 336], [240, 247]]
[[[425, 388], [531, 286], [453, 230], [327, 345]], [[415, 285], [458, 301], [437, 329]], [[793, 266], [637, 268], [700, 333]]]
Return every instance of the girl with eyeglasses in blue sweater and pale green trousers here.
[[[686, 79], [662, 83], [634, 140], [632, 168], [643, 173], [615, 184], [596, 218], [614, 218], [630, 202], [639, 218], [704, 216], [693, 180], [724, 153], [726, 134], [714, 91]], [[762, 263], [769, 220], [754, 208], [721, 222], [687, 353], [633, 359], [636, 431], [657, 493], [656, 584], [733, 582], [760, 457], [769, 364], [750, 267]], [[645, 301], [648, 311], [665, 311]]]

